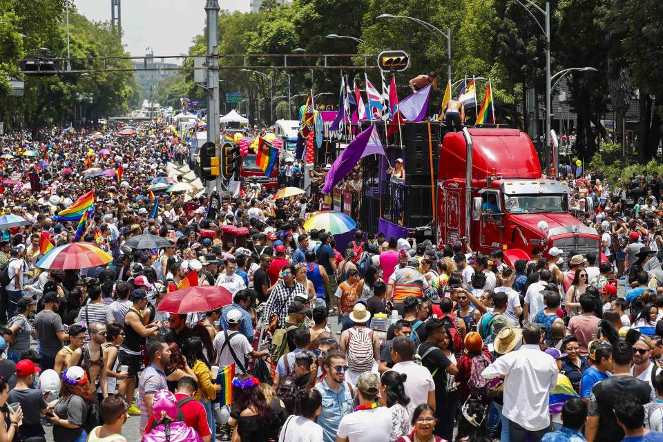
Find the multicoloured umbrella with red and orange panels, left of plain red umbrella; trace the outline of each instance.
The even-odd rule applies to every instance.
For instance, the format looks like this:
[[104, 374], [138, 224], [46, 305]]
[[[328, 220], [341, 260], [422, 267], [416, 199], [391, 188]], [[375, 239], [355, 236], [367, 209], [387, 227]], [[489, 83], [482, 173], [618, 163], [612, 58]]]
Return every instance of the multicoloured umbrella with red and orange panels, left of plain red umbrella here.
[[112, 260], [113, 256], [99, 249], [97, 244], [73, 242], [55, 247], [46, 253], [37, 261], [37, 267], [55, 270], [87, 269], [108, 264]]

